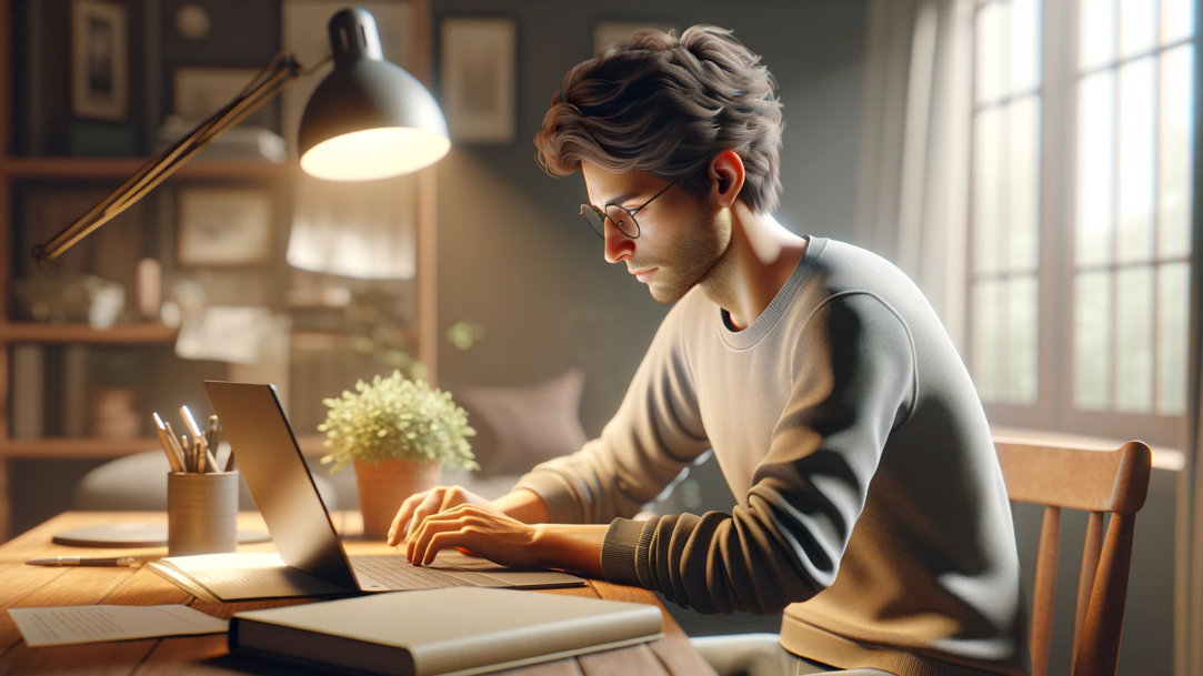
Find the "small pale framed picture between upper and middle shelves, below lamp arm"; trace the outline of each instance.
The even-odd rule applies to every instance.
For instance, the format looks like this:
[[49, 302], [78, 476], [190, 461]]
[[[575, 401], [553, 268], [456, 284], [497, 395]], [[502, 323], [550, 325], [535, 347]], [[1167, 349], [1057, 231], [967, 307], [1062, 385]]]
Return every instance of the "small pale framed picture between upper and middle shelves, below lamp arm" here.
[[179, 265], [257, 267], [271, 260], [275, 227], [268, 192], [255, 188], [184, 188], [176, 207]]

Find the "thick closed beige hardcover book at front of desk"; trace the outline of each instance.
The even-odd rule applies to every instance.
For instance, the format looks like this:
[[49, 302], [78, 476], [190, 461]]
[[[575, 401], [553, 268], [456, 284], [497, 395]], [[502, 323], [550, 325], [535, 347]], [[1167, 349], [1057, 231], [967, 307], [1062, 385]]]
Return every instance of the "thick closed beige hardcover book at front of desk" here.
[[648, 641], [654, 605], [446, 587], [235, 613], [230, 651], [389, 676], [468, 676]]

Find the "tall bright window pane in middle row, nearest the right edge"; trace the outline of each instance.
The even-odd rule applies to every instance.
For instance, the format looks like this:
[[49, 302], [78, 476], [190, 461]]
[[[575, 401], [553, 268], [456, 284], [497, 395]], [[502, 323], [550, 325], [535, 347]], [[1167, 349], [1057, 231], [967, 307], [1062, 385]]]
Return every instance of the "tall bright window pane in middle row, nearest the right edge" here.
[[1161, 135], [1157, 166], [1158, 254], [1185, 257], [1191, 250], [1191, 147], [1195, 117], [1195, 47], [1161, 58]]

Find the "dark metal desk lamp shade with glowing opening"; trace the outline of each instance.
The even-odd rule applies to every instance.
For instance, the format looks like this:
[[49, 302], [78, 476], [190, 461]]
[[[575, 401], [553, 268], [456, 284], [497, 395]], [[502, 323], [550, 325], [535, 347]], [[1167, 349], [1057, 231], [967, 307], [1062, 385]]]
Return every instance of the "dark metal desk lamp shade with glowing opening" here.
[[301, 117], [301, 168], [328, 180], [371, 180], [438, 161], [451, 142], [443, 111], [404, 69], [384, 59], [375, 19], [343, 10], [330, 20], [334, 70]]

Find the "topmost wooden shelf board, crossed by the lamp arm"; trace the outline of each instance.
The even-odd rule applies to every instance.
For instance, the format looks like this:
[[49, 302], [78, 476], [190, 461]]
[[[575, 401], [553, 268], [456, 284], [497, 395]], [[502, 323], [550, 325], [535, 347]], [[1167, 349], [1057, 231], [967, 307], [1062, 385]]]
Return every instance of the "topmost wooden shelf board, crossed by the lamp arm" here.
[[[0, 158], [0, 174], [10, 178], [113, 178], [124, 179], [138, 171], [148, 158]], [[182, 178], [288, 178], [296, 173], [292, 162], [259, 160], [196, 160], [180, 166], [172, 176]]]

